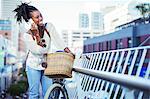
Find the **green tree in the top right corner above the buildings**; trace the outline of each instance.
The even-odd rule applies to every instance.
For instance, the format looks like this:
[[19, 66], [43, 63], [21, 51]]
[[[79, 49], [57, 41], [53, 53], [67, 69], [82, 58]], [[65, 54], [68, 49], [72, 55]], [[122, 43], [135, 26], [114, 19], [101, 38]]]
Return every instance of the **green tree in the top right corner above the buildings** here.
[[150, 17], [150, 3], [141, 3], [135, 8], [140, 11], [143, 18]]

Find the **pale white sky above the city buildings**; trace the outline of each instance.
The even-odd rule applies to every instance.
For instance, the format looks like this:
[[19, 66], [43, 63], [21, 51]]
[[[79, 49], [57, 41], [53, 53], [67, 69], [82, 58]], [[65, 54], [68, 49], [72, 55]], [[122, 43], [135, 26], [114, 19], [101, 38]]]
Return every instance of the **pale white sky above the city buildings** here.
[[51, 22], [59, 33], [62, 30], [78, 29], [81, 12], [101, 11], [106, 6], [125, 4], [128, 1], [130, 0], [27, 0], [41, 11], [44, 22]]

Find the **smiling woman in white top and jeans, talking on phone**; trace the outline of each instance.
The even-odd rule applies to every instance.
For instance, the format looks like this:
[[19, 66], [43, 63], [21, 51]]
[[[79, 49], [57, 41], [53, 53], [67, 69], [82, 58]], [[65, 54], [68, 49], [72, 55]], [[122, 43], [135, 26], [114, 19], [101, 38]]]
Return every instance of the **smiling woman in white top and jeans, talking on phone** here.
[[[39, 86], [42, 85], [43, 96], [51, 85], [51, 79], [43, 75], [46, 64], [43, 58], [49, 52], [51, 43], [59, 49], [64, 49], [63, 41], [58, 36], [51, 23], [43, 23], [40, 11], [27, 3], [22, 3], [15, 10], [17, 22], [32, 21], [31, 28], [24, 33], [24, 40], [27, 48], [26, 73], [29, 83], [29, 98], [39, 99]], [[65, 52], [70, 52], [67, 48]]]

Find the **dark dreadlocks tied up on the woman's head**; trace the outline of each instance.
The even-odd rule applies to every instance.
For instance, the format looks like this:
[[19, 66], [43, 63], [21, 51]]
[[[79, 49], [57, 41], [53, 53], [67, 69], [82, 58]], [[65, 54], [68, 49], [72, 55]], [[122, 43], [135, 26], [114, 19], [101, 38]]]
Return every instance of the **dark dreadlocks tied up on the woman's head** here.
[[36, 10], [38, 9], [29, 5], [29, 3], [21, 3], [21, 5], [18, 5], [18, 7], [13, 10], [13, 12], [16, 12], [15, 17], [17, 18], [17, 22], [22, 23], [22, 19], [24, 19], [25, 22], [29, 22], [29, 19], [31, 18], [30, 12]]

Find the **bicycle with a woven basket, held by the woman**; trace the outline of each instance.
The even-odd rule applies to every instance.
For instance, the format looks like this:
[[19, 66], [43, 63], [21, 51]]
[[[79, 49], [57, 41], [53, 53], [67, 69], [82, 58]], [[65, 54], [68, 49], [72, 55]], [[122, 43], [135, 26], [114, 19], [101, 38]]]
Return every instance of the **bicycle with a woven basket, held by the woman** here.
[[[47, 63], [49, 66], [45, 69], [44, 74], [48, 76], [49, 74], [55, 75], [57, 79], [54, 79], [52, 86], [47, 89], [44, 99], [69, 99], [65, 88], [65, 80], [61, 78], [71, 77], [70, 73], [74, 59], [74, 55], [64, 52], [57, 52], [47, 55], [45, 60], [48, 61]], [[57, 77], [59, 75], [61, 75], [61, 77]], [[53, 76], [52, 78], [55, 77]]]

